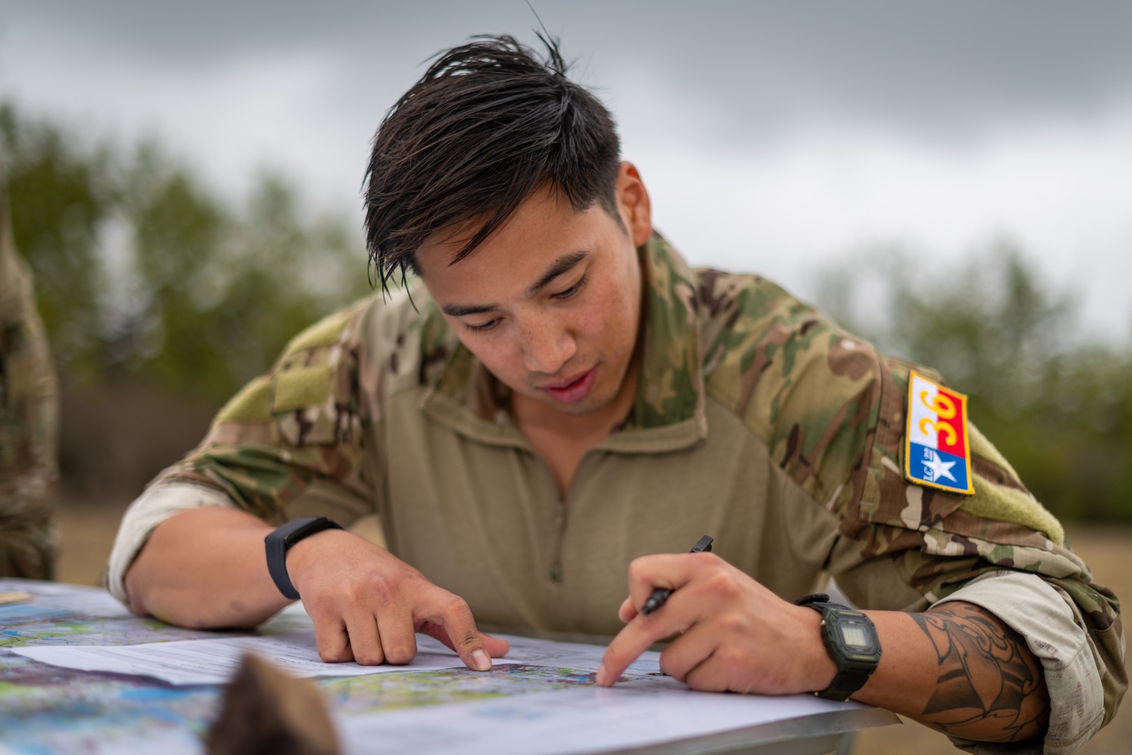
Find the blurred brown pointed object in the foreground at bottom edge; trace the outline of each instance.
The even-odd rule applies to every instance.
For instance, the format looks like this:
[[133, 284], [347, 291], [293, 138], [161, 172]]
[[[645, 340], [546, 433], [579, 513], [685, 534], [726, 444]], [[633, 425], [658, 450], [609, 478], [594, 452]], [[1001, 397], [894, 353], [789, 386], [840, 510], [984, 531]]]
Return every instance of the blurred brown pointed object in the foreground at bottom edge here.
[[247, 653], [224, 688], [208, 755], [337, 755], [337, 735], [318, 687]]

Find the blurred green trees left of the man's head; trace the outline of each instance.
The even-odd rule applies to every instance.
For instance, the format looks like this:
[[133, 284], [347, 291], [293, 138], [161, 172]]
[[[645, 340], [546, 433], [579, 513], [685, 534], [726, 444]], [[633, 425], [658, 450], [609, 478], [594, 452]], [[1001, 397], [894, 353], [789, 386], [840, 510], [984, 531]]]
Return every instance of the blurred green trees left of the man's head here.
[[370, 291], [357, 235], [281, 175], [234, 204], [155, 143], [85, 144], [0, 106], [16, 241], [65, 379], [132, 376], [218, 403]]

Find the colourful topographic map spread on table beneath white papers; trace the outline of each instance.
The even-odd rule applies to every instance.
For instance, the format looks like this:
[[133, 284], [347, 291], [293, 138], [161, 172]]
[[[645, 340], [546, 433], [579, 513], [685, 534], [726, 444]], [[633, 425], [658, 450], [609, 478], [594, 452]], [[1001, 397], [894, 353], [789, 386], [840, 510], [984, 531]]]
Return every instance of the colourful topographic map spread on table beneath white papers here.
[[[200, 752], [200, 740], [216, 713], [218, 685], [172, 685], [143, 676], [59, 668], [12, 650], [138, 645], [248, 633], [185, 629], [138, 617], [93, 587], [0, 580], [0, 592], [5, 591], [25, 591], [35, 598], [29, 603], [0, 606], [0, 752]], [[286, 635], [309, 628], [307, 616], [292, 611], [255, 634]], [[453, 661], [460, 663], [458, 658]], [[489, 674], [458, 667], [316, 679], [316, 684], [337, 714], [352, 715], [592, 685], [593, 672], [515, 663]]]

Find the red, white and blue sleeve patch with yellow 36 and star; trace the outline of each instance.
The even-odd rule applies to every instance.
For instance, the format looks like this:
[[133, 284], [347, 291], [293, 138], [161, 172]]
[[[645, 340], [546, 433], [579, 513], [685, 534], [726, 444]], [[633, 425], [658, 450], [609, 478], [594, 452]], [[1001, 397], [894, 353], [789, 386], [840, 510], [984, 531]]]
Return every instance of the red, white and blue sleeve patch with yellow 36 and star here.
[[975, 492], [967, 396], [912, 370], [904, 437], [904, 475], [910, 482], [947, 492]]

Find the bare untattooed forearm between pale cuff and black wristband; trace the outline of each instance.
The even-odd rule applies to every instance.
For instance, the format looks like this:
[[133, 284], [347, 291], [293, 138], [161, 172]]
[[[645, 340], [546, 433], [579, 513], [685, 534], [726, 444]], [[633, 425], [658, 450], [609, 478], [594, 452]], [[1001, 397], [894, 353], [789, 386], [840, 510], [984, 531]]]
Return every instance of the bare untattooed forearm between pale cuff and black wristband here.
[[192, 508], [162, 522], [126, 574], [130, 607], [190, 627], [250, 627], [288, 604], [267, 572], [272, 527], [232, 508]]

